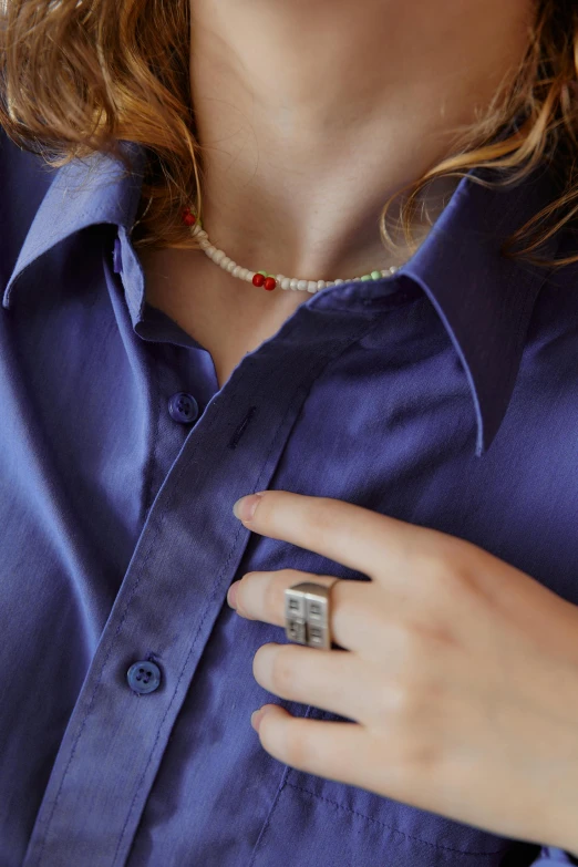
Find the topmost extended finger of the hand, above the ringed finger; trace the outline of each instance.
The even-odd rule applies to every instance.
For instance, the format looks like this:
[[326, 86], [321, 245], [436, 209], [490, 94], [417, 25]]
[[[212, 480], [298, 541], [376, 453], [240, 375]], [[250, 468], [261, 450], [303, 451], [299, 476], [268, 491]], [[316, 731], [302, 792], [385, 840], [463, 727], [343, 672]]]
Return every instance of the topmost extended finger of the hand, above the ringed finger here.
[[312, 497], [288, 491], [266, 491], [249, 520], [254, 533], [285, 539], [364, 572], [385, 572], [404, 581], [416, 550], [436, 539], [453, 539], [437, 530], [416, 527], [371, 509], [330, 497]]

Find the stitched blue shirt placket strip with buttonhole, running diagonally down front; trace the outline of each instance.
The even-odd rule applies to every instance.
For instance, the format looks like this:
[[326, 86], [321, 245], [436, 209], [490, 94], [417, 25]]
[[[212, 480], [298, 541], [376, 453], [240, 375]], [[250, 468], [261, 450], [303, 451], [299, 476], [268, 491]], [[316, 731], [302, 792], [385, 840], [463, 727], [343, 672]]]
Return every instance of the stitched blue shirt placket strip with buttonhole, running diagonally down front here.
[[[152, 486], [149, 515], [60, 745], [23, 867], [78, 863], [89, 842], [102, 864], [126, 864], [172, 729], [249, 540], [230, 504], [268, 487], [311, 383], [378, 321], [319, 310], [286, 322], [275, 345], [240, 365], [209, 402], [204, 423], [186, 438], [158, 492]], [[159, 396], [166, 395], [158, 384]], [[166, 396], [162, 401], [166, 407]], [[248, 405], [259, 411], [233, 448], [231, 429]], [[257, 463], [255, 454], [262, 460]], [[162, 654], [163, 689], [154, 700], [136, 703], [117, 664], [134, 659], [138, 647]], [[104, 725], [114, 731], [106, 761]], [[80, 797], [87, 767], [89, 812]]]

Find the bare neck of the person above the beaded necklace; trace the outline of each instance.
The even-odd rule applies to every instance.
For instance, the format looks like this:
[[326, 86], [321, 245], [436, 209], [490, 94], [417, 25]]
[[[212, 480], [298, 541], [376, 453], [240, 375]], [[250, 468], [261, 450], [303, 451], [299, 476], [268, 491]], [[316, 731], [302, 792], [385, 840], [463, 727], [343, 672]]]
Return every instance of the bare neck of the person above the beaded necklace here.
[[[380, 238], [383, 205], [451, 153], [456, 130], [515, 70], [531, 7], [192, 2], [210, 239], [245, 267], [303, 279], [401, 265], [409, 254], [392, 255]], [[432, 186], [421, 240], [458, 180]]]

